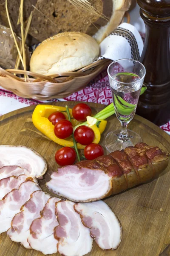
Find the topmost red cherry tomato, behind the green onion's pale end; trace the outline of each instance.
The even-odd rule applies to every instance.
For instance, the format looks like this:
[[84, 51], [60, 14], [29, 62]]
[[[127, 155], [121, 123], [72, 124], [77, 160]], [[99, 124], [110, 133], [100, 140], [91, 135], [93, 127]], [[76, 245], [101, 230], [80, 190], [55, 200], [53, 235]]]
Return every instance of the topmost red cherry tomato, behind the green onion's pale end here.
[[91, 116], [91, 108], [85, 103], [79, 103], [72, 109], [73, 117], [80, 121], [85, 122], [87, 116]]

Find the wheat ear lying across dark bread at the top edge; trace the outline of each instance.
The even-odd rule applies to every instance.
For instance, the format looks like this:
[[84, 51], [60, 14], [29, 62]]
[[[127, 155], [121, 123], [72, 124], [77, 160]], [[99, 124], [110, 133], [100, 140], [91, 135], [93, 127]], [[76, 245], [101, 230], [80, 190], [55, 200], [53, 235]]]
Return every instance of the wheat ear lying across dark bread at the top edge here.
[[68, 0], [69, 3], [73, 4], [75, 7], [80, 7], [82, 9], [84, 9], [87, 12], [90, 12], [91, 14], [98, 16], [98, 17], [102, 17], [106, 20], [108, 20], [108, 18], [105, 15], [101, 15], [98, 10], [92, 6], [92, 4], [88, 1], [88, 0]]

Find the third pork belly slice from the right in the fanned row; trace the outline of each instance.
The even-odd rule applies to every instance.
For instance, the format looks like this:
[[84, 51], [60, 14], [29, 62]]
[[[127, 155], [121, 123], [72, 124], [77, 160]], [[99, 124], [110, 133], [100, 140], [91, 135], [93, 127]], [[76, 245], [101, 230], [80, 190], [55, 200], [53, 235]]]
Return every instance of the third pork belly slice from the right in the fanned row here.
[[58, 226], [55, 214], [56, 203], [60, 198], [50, 198], [45, 204], [41, 217], [35, 219], [30, 226], [31, 235], [28, 243], [34, 250], [43, 254], [57, 253], [57, 240], [54, 238], [54, 228]]

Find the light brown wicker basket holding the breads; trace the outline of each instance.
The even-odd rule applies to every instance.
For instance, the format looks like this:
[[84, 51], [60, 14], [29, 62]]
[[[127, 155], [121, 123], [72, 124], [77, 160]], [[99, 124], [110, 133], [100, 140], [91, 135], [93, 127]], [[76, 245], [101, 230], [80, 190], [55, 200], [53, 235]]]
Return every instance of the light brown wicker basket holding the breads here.
[[[125, 17], [127, 17], [127, 23], [130, 23], [128, 12], [125, 13]], [[110, 63], [111, 60], [102, 59], [80, 70], [58, 73], [51, 76], [43, 76], [30, 71], [4, 70], [0, 68], [0, 86], [20, 97], [28, 99], [48, 100], [64, 98], [85, 87]], [[27, 75], [28, 78], [25, 81], [24, 78], [20, 78], [14, 74]]]

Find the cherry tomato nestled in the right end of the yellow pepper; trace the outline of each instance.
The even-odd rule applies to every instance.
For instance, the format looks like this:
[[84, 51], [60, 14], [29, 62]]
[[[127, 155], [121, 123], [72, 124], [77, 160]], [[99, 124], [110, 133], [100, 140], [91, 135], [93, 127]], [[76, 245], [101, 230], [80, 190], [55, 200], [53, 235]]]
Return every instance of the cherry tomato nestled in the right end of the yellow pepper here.
[[74, 138], [78, 143], [88, 145], [94, 140], [94, 131], [88, 126], [81, 125], [74, 131]]

